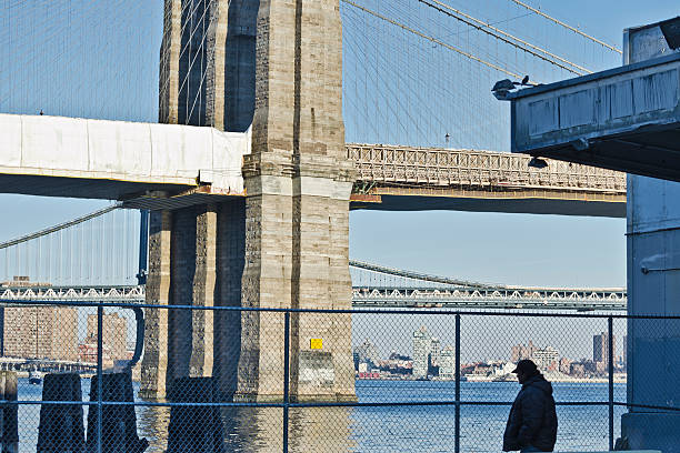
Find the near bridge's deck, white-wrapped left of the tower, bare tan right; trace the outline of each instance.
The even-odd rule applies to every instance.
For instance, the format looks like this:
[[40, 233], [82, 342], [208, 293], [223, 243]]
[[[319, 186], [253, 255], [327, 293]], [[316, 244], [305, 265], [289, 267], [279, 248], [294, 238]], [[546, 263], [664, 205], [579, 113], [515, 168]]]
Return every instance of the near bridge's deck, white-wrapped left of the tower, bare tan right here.
[[[0, 193], [176, 209], [243, 197], [250, 134], [179, 124], [0, 114]], [[352, 209], [626, 217], [626, 175], [510, 153], [347, 144]]]

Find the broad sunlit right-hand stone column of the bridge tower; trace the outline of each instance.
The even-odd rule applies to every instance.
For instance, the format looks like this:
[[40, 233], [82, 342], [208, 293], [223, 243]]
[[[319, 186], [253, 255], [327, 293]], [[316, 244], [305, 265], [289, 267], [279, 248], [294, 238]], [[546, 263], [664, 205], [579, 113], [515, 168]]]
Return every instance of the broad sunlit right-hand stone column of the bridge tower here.
[[[260, 0], [256, 61], [242, 303], [349, 309], [353, 165], [344, 153], [338, 0]], [[241, 325], [237, 397], [280, 400], [283, 316], [246, 312]], [[349, 315], [291, 315], [292, 399], [356, 397], [350, 335]]]

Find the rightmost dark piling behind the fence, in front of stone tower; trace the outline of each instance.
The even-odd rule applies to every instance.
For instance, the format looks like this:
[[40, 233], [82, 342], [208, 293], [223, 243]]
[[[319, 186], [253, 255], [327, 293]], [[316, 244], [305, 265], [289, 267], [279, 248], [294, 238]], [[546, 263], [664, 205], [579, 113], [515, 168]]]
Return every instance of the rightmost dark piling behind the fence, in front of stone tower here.
[[[181, 378], [172, 382], [169, 399], [173, 403], [214, 403], [218, 394], [212, 378]], [[167, 453], [224, 452], [219, 406], [172, 406], [168, 431]]]

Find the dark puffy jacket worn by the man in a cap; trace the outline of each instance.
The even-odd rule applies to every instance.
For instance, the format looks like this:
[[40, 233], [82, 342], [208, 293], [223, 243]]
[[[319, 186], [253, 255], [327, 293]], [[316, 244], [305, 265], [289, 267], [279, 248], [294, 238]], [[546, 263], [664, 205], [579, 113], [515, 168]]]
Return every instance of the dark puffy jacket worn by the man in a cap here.
[[521, 450], [529, 445], [551, 452], [557, 440], [557, 413], [552, 385], [541, 374], [529, 378], [512, 403], [503, 451]]

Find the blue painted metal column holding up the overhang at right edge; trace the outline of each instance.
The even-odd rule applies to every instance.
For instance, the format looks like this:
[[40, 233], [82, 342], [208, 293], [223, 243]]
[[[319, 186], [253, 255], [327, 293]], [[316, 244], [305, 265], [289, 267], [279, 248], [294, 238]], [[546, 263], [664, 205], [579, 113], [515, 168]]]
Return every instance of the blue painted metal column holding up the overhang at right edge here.
[[[624, 63], [672, 52], [657, 24], [626, 30]], [[680, 183], [628, 177], [628, 312], [680, 315]], [[680, 321], [628, 322], [630, 449], [680, 453]], [[660, 407], [673, 407], [676, 411]]]

